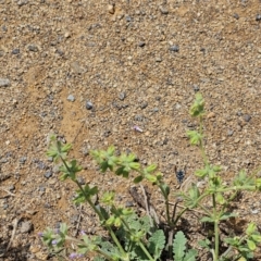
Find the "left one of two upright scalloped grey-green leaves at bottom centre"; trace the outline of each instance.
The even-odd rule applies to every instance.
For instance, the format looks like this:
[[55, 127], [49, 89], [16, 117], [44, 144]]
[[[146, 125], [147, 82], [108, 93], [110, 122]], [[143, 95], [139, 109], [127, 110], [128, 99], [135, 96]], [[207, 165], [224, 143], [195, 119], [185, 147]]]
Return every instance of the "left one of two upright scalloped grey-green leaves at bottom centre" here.
[[156, 231], [149, 238], [149, 252], [154, 260], [159, 259], [165, 246], [165, 235], [163, 231]]

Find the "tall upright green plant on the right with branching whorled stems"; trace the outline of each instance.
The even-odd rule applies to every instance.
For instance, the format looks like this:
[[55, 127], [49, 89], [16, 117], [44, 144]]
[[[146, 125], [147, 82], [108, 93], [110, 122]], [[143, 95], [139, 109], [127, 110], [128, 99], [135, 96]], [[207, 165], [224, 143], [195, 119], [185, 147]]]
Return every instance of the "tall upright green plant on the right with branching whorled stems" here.
[[[199, 130], [188, 130], [190, 144], [199, 147], [203, 159], [204, 167], [196, 171], [195, 175], [198, 178], [207, 179], [207, 186], [203, 191], [200, 191], [196, 185], [192, 184], [188, 192], [181, 192], [179, 196], [185, 200], [185, 206], [190, 209], [200, 208], [204, 212], [201, 222], [211, 223], [214, 226], [213, 241], [206, 239], [201, 246], [207, 247], [213, 256], [213, 260], [248, 260], [253, 257], [257, 244], [261, 243], [261, 236], [257, 231], [254, 224], [250, 224], [246, 231], [246, 235], [241, 237], [228, 237], [224, 241], [228, 245], [225, 252], [220, 253], [220, 223], [231, 217], [236, 216], [236, 213], [229, 211], [229, 203], [236, 198], [239, 191], [248, 190], [256, 191], [261, 189], [261, 179], [256, 178], [259, 171], [253, 172], [247, 176], [245, 171], [240, 171], [234, 177], [233, 184], [224, 185], [221, 175], [221, 166], [213, 165], [209, 162], [204, 147], [203, 147], [203, 115], [204, 100], [200, 94], [196, 95], [196, 100], [190, 109], [190, 115], [199, 119]], [[211, 208], [203, 206], [204, 199], [210, 200]], [[235, 254], [235, 251], [238, 252]]]

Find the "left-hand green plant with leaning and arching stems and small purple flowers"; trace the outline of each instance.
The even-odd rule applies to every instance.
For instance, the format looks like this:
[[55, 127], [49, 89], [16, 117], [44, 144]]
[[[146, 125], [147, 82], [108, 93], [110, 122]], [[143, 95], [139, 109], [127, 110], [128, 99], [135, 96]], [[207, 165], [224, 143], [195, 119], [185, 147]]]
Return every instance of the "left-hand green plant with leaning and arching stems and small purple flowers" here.
[[[161, 260], [161, 257], [166, 254], [172, 247], [171, 244], [167, 251], [164, 250], [166, 229], [161, 229], [149, 215], [138, 216], [130, 209], [115, 206], [114, 191], [105, 191], [99, 204], [95, 204], [91, 198], [98, 195], [98, 187], [90, 187], [88, 184], [82, 186], [79, 184], [76, 173], [82, 167], [76, 160], [66, 160], [66, 153], [70, 149], [71, 145], [62, 145], [61, 141], [52, 136], [48, 156], [52, 157], [55, 162], [62, 162], [60, 166], [62, 172], [61, 179], [71, 178], [78, 186], [74, 202], [76, 204], [87, 202], [92, 208], [100, 220], [100, 224], [109, 232], [110, 239], [108, 240], [102, 236], [90, 238], [86, 234], [82, 235], [79, 239], [73, 238], [67, 235], [69, 228], [66, 225], [62, 224], [61, 228], [55, 232], [50, 228], [44, 232], [41, 235], [44, 243], [55, 254], [64, 249], [65, 240], [72, 240], [76, 243], [78, 250], [77, 253], [71, 253], [71, 257], [80, 257], [89, 251], [95, 251], [105, 260]], [[174, 220], [170, 214], [170, 187], [163, 183], [162, 174], [157, 172], [157, 166], [152, 164], [144, 169], [136, 162], [134, 154], [116, 157], [114, 151], [114, 147], [110, 147], [107, 151], [94, 150], [91, 154], [100, 165], [102, 173], [105, 173], [109, 169], [114, 171], [117, 176], [127, 178], [130, 171], [136, 171], [138, 176], [134, 178], [134, 183], [147, 179], [153, 185], [158, 185], [165, 199], [167, 229], [173, 231], [177, 219]], [[170, 257], [172, 258], [172, 253]], [[194, 257], [196, 257], [196, 251]]]

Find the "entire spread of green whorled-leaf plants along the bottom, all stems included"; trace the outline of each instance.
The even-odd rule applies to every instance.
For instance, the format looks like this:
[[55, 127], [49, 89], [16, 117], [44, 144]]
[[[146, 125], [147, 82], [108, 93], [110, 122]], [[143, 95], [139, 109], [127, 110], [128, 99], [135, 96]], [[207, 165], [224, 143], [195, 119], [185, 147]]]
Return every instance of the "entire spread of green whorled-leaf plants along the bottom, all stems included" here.
[[[141, 261], [174, 259], [175, 261], [192, 261], [196, 260], [197, 251], [194, 249], [186, 251], [186, 237], [182, 232], [176, 231], [176, 225], [186, 211], [201, 209], [204, 215], [200, 221], [213, 224], [213, 237], [201, 241], [201, 246], [211, 251], [214, 261], [252, 257], [256, 246], [261, 241], [261, 236], [257, 232], [254, 224], [248, 227], [246, 235], [241, 237], [233, 235], [224, 241], [220, 240], [219, 226], [221, 222], [236, 215], [229, 212], [228, 207], [238, 192], [241, 190], [260, 190], [261, 179], [254, 177], [256, 173], [247, 176], [241, 171], [235, 177], [232, 186], [224, 185], [220, 175], [221, 167], [212, 165], [204, 151], [202, 124], [204, 101], [200, 94], [196, 95], [190, 114], [199, 119], [199, 130], [189, 130], [187, 135], [190, 144], [199, 147], [204, 165], [203, 169], [196, 171], [195, 175], [198, 178], [206, 179], [207, 185], [201, 191], [196, 184], [191, 184], [186, 191], [174, 192], [177, 200], [173, 210], [169, 201], [171, 188], [164, 183], [163, 175], [157, 171], [156, 164], [142, 167], [133, 153], [115, 156], [114, 147], [109, 147], [105, 151], [91, 151], [91, 156], [99, 164], [103, 174], [110, 170], [117, 176], [129, 178], [129, 173], [136, 172], [135, 184], [139, 184], [145, 179], [160, 188], [165, 206], [163, 225], [157, 222], [154, 216], [150, 215], [148, 206], [146, 216], [138, 216], [133, 210], [116, 206], [114, 191], [103, 192], [99, 203], [95, 204], [91, 198], [100, 194], [100, 191], [97, 186], [90, 187], [88, 184], [82, 186], [77, 181], [76, 174], [82, 171], [82, 167], [76, 160], [69, 161], [66, 158], [71, 145], [62, 145], [54, 136], [51, 137], [51, 146], [47, 154], [52, 157], [55, 162], [62, 162], [60, 166], [62, 172], [61, 179], [70, 178], [77, 185], [78, 190], [74, 202], [76, 204], [87, 202], [98, 215], [101, 226], [108, 231], [110, 237], [105, 238], [98, 235], [89, 237], [83, 234], [80, 238], [73, 238], [67, 235], [69, 228], [66, 225], [62, 224], [59, 231], [53, 232], [48, 228], [42, 234], [42, 240], [50, 250], [59, 254], [66, 249], [64, 247], [65, 240], [72, 240], [78, 247], [77, 253], [71, 253], [72, 258], [80, 257], [88, 252], [96, 252], [98, 253], [97, 260]], [[204, 206], [206, 199], [210, 199], [211, 208]], [[184, 208], [177, 211], [177, 203], [181, 200], [183, 200]], [[225, 246], [225, 251], [220, 252], [221, 246]]]

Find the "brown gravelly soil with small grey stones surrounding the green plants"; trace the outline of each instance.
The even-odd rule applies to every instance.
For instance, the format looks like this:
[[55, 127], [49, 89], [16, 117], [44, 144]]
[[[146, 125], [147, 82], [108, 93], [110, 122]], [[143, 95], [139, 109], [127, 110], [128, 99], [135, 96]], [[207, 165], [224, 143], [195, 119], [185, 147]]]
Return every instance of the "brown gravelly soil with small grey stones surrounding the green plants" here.
[[[200, 91], [208, 156], [224, 179], [261, 165], [259, 0], [0, 0], [0, 260], [47, 260], [37, 234], [60, 222], [99, 229], [46, 156], [52, 133], [73, 144], [83, 184], [135, 204], [130, 181], [101, 175], [89, 150], [114, 145], [154, 162], [175, 191], [175, 167], [189, 177], [202, 166], [186, 137]], [[237, 208], [237, 224], [261, 226], [260, 194]], [[201, 225], [187, 224], [196, 247]]]

